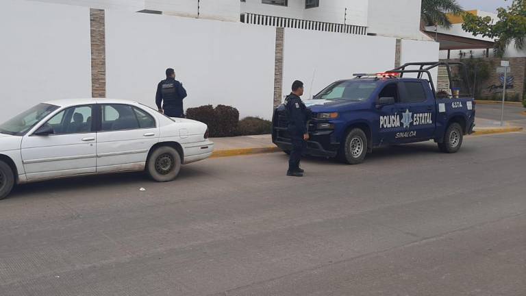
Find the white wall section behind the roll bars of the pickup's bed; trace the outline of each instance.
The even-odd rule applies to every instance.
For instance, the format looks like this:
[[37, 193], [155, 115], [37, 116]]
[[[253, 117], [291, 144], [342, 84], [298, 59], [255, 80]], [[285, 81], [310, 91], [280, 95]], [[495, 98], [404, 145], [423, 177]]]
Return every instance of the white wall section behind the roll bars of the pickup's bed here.
[[[408, 62], [438, 62], [438, 49], [440, 44], [434, 41], [416, 41], [416, 40], [402, 40], [401, 42], [401, 64]], [[419, 67], [413, 67], [411, 69], [418, 69]], [[410, 70], [410, 68], [408, 68]], [[433, 83], [437, 83], [438, 69], [430, 71]], [[405, 74], [404, 77], [416, 77], [414, 74]], [[427, 75], [423, 75], [424, 79], [427, 79]]]

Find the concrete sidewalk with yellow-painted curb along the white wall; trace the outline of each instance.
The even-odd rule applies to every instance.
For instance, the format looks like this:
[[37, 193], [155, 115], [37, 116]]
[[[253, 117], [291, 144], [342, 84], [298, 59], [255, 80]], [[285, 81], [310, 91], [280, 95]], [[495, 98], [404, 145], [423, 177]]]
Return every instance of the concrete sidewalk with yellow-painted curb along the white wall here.
[[[505, 123], [501, 127], [500, 121], [490, 119], [475, 119], [475, 134], [498, 134], [503, 132], [518, 132], [522, 127]], [[271, 153], [280, 151], [273, 143], [270, 134], [256, 136], [236, 136], [229, 138], [211, 138], [215, 143], [212, 157], [239, 156], [257, 153]]]

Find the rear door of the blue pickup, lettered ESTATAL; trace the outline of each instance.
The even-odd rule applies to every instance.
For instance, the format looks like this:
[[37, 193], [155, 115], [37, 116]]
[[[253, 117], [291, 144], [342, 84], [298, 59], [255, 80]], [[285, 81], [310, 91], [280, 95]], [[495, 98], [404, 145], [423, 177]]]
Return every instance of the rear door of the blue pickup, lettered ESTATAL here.
[[[402, 121], [408, 128], [407, 138], [410, 142], [434, 138], [436, 103], [433, 94], [425, 83], [421, 80], [414, 80], [403, 81], [399, 84], [401, 102], [406, 109], [403, 114], [407, 115]], [[402, 136], [406, 135], [402, 134]]]

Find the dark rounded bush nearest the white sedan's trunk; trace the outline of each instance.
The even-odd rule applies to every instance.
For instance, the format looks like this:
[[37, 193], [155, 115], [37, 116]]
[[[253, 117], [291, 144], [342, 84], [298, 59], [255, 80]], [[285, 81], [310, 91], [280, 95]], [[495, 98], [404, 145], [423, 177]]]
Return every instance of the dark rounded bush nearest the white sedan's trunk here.
[[225, 105], [201, 106], [188, 108], [186, 118], [201, 121], [208, 125], [210, 137], [235, 136], [239, 122], [239, 112], [236, 108]]

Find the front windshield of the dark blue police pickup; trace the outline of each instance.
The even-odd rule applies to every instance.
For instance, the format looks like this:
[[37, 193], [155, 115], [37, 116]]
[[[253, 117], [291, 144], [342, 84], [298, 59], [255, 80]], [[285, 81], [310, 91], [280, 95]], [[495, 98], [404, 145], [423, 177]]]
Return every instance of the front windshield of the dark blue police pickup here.
[[358, 79], [334, 82], [313, 99], [365, 101], [377, 88], [377, 82]]

